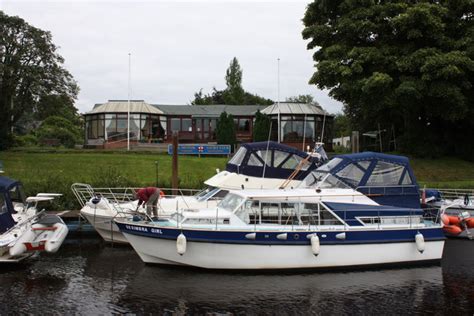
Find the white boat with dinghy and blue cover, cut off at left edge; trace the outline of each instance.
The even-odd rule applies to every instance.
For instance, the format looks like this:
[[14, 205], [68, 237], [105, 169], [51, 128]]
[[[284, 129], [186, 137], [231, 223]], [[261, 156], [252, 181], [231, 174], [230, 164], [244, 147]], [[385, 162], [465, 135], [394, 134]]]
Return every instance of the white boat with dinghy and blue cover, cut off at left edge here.
[[39, 202], [57, 194], [24, 198], [21, 183], [0, 177], [0, 262], [18, 262], [38, 252], [54, 253], [68, 228], [57, 215], [38, 212]]

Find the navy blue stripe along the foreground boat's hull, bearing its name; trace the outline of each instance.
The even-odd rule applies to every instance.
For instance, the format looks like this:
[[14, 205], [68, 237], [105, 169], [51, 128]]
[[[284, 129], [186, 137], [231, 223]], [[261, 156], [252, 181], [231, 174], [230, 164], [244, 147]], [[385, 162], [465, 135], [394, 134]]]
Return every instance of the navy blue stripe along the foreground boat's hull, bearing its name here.
[[[286, 232], [287, 240], [280, 240], [278, 235], [285, 232], [257, 232], [255, 240], [250, 240], [245, 235], [251, 231], [209, 231], [209, 230], [187, 230], [165, 227], [149, 227], [140, 224], [124, 224], [116, 222], [122, 233], [159, 238], [174, 239], [183, 233], [188, 241], [226, 243], [226, 244], [251, 244], [251, 245], [309, 245], [310, 240], [306, 237], [314, 232]], [[316, 232], [321, 245], [345, 245], [345, 244], [374, 244], [374, 243], [398, 243], [414, 242], [415, 235], [420, 232], [425, 241], [444, 240], [441, 228], [424, 229], [399, 229], [399, 230], [366, 230], [345, 231], [346, 239], [337, 239], [336, 235], [343, 231]]]

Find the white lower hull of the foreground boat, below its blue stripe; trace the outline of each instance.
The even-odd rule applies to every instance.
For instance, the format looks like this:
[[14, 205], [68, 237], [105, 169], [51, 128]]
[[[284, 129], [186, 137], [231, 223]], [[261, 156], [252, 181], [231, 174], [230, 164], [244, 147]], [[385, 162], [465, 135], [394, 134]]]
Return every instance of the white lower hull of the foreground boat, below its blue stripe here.
[[318, 256], [309, 245], [243, 245], [187, 242], [179, 255], [176, 240], [125, 233], [146, 263], [189, 265], [206, 269], [337, 268], [440, 260], [444, 240], [426, 242], [423, 253], [415, 242], [321, 245]]

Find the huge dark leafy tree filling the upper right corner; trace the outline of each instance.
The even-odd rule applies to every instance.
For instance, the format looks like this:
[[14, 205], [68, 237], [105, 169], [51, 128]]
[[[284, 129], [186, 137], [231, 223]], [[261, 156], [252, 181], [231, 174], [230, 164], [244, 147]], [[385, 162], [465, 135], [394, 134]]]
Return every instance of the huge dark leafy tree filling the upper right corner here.
[[316, 72], [360, 131], [390, 129], [404, 149], [474, 158], [474, 2], [315, 0], [306, 11]]

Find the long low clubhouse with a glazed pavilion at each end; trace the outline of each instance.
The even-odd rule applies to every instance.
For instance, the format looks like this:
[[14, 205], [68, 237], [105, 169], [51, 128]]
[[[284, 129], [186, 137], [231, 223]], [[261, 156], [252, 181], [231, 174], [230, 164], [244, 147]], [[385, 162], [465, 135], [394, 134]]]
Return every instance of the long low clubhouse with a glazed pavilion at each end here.
[[315, 103], [163, 105], [143, 100], [131, 100], [130, 106], [127, 100], [96, 104], [84, 114], [84, 144], [87, 148], [127, 147], [128, 113], [133, 145], [171, 143], [174, 132], [180, 143], [215, 143], [217, 119], [222, 112], [234, 117], [237, 141], [251, 142], [257, 111], [272, 120], [271, 140], [278, 141], [280, 137], [282, 143], [299, 149], [313, 147], [316, 141], [324, 142], [326, 148], [331, 146], [334, 117]]

